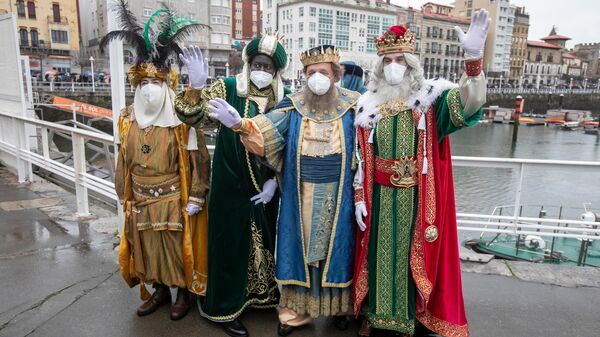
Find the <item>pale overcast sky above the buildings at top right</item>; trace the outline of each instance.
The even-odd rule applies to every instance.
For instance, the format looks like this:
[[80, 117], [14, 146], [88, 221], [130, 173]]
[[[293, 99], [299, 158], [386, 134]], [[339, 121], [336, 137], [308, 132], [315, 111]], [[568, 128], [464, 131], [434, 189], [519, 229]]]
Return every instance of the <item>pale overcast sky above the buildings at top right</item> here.
[[[400, 6], [421, 7], [426, 0], [392, 0]], [[451, 5], [454, 0], [431, 1]], [[525, 6], [529, 13], [529, 40], [539, 40], [548, 35], [552, 25], [558, 34], [572, 40], [567, 47], [576, 43], [600, 42], [599, 0], [511, 0], [517, 6]]]

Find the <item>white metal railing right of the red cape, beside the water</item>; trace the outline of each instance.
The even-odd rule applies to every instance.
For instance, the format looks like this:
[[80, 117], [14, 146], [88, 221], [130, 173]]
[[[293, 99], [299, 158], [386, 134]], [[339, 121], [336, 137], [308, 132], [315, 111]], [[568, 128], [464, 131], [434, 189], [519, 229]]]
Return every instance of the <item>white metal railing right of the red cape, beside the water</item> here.
[[[514, 209], [513, 215], [502, 216], [480, 213], [457, 213], [458, 230], [481, 233], [541, 235], [547, 237], [600, 240], [600, 222], [526, 217], [521, 216], [519, 212], [516, 211], [522, 206], [521, 193], [526, 168], [542, 168], [544, 170], [568, 168], [572, 171], [596, 170], [595, 172], [600, 172], [600, 162], [462, 156], [453, 156], [452, 162], [453, 166], [458, 167], [514, 169], [518, 174], [517, 189], [514, 197], [514, 205], [512, 206]], [[583, 186], [580, 188], [583, 188]], [[565, 226], [566, 224], [568, 224], [568, 226]]]

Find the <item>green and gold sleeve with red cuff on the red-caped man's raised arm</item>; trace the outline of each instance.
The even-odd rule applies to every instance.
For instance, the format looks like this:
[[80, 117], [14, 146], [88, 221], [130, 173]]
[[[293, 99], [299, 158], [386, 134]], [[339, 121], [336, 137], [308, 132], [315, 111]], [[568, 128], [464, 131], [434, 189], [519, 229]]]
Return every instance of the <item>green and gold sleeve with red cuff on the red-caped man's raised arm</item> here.
[[486, 100], [486, 79], [477, 67], [481, 60], [466, 61], [459, 87], [444, 91], [435, 102], [434, 110], [438, 139], [463, 128], [477, 124], [483, 114]]

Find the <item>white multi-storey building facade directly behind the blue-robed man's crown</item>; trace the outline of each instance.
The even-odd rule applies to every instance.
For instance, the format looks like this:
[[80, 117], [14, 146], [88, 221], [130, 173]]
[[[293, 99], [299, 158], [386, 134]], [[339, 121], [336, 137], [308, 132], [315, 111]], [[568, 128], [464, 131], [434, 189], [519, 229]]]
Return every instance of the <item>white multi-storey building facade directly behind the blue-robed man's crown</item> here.
[[340, 49], [342, 60], [365, 69], [377, 61], [375, 38], [397, 24], [394, 6], [376, 0], [266, 0], [263, 26], [283, 36], [291, 61], [284, 77], [301, 79], [298, 55], [322, 44]]

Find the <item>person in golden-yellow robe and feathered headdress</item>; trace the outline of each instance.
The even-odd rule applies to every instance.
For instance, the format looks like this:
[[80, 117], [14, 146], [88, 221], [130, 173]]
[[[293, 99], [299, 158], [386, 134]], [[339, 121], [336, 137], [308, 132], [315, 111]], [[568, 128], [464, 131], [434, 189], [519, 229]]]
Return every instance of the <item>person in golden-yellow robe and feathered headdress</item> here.
[[[190, 292], [203, 295], [206, 289], [210, 156], [203, 134], [174, 112], [178, 75], [168, 58], [181, 51], [176, 36], [198, 25], [162, 8], [142, 29], [125, 2], [120, 5], [124, 30], [109, 33], [102, 46], [125, 38], [138, 55], [128, 71], [134, 101], [119, 117], [115, 188], [125, 213], [119, 264], [130, 287], [140, 284], [145, 302], [139, 316], [171, 304], [169, 288], [177, 288], [170, 316], [178, 320], [189, 311]], [[145, 284], [155, 288], [152, 296]]]

